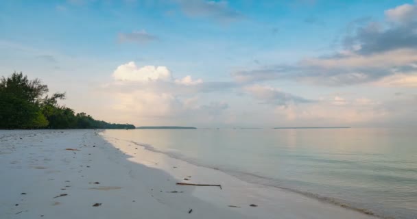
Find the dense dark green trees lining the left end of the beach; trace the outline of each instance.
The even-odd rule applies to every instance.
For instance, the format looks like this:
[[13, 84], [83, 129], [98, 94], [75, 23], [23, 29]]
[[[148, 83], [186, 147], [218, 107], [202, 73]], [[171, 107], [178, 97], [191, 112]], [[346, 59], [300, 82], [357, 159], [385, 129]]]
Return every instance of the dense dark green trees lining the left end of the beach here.
[[58, 104], [64, 93], [49, 96], [48, 86], [23, 73], [0, 79], [0, 129], [134, 129], [134, 125], [113, 124]]

